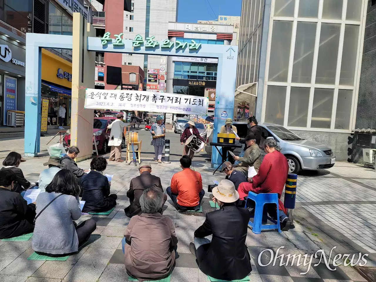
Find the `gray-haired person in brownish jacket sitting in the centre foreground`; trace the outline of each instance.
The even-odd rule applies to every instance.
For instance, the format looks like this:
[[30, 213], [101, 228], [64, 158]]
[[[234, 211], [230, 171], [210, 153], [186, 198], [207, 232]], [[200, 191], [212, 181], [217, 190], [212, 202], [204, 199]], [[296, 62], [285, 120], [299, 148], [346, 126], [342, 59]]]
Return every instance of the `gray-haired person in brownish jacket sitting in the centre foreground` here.
[[121, 241], [127, 273], [137, 279], [162, 279], [170, 275], [177, 244], [171, 218], [161, 215], [160, 188], [146, 189], [140, 197], [141, 215], [133, 216]]

